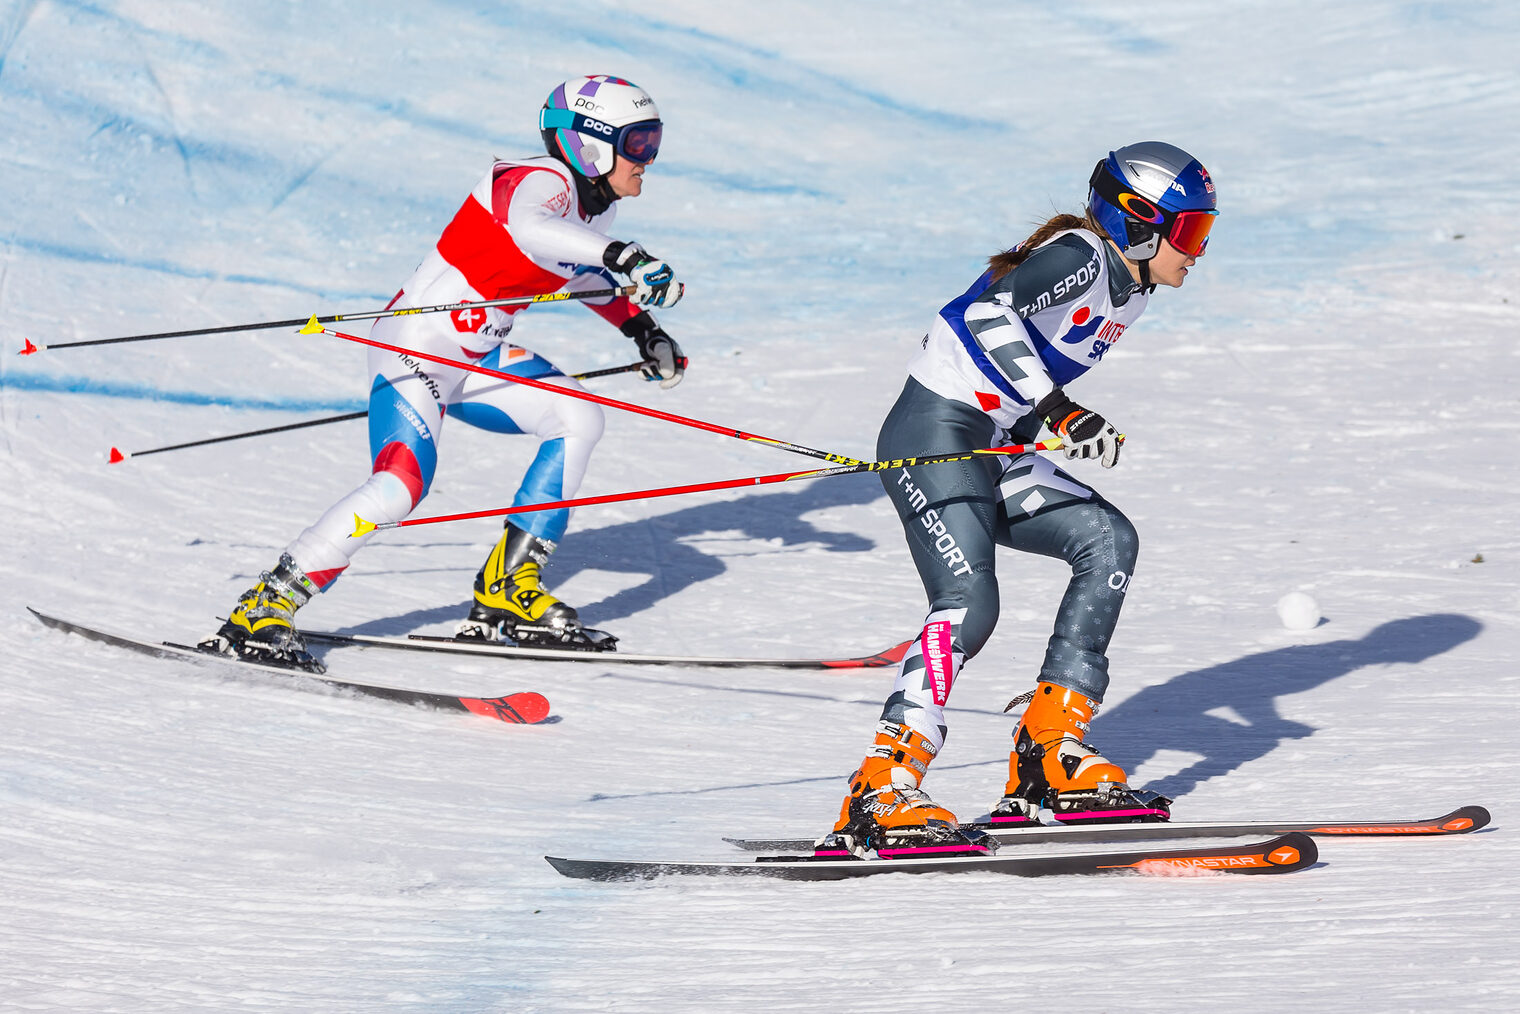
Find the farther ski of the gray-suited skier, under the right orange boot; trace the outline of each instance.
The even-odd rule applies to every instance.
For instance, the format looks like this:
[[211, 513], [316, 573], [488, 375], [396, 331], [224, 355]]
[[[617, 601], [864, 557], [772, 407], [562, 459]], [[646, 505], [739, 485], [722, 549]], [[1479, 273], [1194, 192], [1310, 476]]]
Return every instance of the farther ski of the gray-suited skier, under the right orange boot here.
[[[1286, 835], [1298, 832], [1316, 838], [1401, 838], [1415, 835], [1465, 835], [1487, 827], [1493, 819], [1480, 806], [1464, 806], [1421, 821], [1160, 821], [1149, 824], [1018, 824], [967, 822], [986, 832], [1002, 845], [1035, 842], [1110, 842], [1164, 838], [1240, 838], [1245, 835]], [[746, 851], [809, 851], [813, 838], [725, 838]]]

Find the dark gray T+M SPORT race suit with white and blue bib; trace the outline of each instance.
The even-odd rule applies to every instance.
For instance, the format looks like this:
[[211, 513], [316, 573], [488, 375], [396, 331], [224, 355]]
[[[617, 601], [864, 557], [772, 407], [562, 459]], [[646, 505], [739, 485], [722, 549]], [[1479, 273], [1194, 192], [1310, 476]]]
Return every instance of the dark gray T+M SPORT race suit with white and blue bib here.
[[[1032, 441], [1034, 403], [1096, 365], [1145, 304], [1123, 258], [1085, 230], [1056, 234], [1003, 278], [983, 274], [924, 337], [877, 458]], [[944, 743], [955, 678], [997, 623], [996, 546], [1072, 567], [1040, 680], [1102, 701], [1138, 552], [1116, 506], [1037, 453], [897, 468], [882, 482], [929, 596], [883, 721]]]

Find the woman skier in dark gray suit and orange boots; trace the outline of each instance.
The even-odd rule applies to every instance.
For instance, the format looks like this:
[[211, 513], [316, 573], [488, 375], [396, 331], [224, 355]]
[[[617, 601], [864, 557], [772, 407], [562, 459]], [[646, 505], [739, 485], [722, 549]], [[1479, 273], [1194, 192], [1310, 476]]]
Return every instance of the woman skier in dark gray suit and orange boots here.
[[[939, 312], [882, 424], [877, 458], [1029, 442], [1044, 424], [1069, 459], [1114, 467], [1119, 430], [1066, 388], [1102, 362], [1157, 286], [1183, 284], [1216, 214], [1213, 181], [1187, 152], [1161, 141], [1110, 152], [1090, 178], [1085, 214], [1052, 217]], [[1134, 573], [1129, 520], [1037, 453], [898, 468], [882, 482], [929, 616], [819, 851], [982, 847], [920, 784], [944, 745], [944, 705], [961, 666], [997, 623], [996, 546], [1064, 559], [1072, 581], [1014, 731], [994, 822], [1028, 822], [1041, 807], [1066, 821], [1166, 819], [1167, 800], [1129, 789], [1125, 771], [1084, 742]]]

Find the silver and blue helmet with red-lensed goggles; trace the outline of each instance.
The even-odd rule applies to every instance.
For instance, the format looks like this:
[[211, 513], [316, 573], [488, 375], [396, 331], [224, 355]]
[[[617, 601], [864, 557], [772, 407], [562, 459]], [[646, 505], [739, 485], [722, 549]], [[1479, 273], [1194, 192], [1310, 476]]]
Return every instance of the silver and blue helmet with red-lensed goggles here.
[[1129, 260], [1151, 260], [1164, 237], [1198, 257], [1208, 245], [1214, 181], [1202, 163], [1175, 144], [1140, 141], [1097, 163], [1087, 210]]

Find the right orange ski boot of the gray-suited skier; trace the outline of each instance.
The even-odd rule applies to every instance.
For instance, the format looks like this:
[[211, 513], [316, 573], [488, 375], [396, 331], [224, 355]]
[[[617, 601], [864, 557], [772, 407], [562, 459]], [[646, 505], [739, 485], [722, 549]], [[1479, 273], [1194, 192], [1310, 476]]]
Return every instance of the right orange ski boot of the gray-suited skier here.
[[1097, 702], [1041, 683], [1014, 733], [1008, 786], [993, 807], [994, 825], [1029, 824], [1049, 809], [1061, 822], [1164, 821], [1170, 800], [1135, 791], [1123, 768], [1085, 740]]

